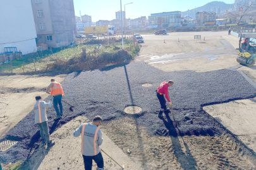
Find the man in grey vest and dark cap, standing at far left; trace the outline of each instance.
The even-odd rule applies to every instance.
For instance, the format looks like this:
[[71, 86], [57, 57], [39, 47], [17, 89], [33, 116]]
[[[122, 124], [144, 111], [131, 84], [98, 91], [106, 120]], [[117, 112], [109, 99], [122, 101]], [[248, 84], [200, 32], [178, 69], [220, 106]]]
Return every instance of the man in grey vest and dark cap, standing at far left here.
[[47, 108], [52, 106], [51, 101], [46, 103], [46, 101], [42, 101], [41, 96], [36, 96], [35, 100], [37, 103], [34, 105], [35, 112], [35, 124], [39, 126], [40, 135], [42, 137], [42, 143], [44, 144], [45, 149], [50, 145], [54, 145], [54, 141], [50, 140], [50, 134], [48, 129], [48, 119], [46, 115]]

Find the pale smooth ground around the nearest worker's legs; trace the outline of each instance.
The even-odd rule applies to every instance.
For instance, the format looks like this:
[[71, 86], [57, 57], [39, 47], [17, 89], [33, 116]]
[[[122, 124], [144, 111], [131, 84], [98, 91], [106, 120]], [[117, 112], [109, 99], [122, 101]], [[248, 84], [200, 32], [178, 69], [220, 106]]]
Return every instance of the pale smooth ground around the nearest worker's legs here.
[[[34, 154], [26, 161], [21, 169], [83, 169], [83, 157], [81, 154], [81, 137], [73, 137], [73, 131], [82, 123], [89, 120], [85, 116], [78, 116], [63, 127], [51, 134], [51, 139], [56, 142], [49, 150], [45, 150], [42, 144], [34, 150]], [[131, 161], [126, 154], [119, 149], [114, 142], [102, 132], [104, 140], [101, 149], [118, 162], [125, 169], [141, 169], [141, 167]], [[104, 167], [107, 170], [119, 170], [121, 167], [102, 152]], [[97, 169], [94, 162], [93, 169]]]

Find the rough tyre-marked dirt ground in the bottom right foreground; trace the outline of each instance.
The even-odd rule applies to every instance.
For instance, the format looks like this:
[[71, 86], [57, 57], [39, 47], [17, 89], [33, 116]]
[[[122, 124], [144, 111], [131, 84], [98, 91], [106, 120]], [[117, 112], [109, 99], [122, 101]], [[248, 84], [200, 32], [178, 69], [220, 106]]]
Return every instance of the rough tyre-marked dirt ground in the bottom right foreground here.
[[124, 118], [104, 125], [108, 137], [143, 169], [255, 169], [254, 159], [228, 133], [221, 136], [157, 137]]

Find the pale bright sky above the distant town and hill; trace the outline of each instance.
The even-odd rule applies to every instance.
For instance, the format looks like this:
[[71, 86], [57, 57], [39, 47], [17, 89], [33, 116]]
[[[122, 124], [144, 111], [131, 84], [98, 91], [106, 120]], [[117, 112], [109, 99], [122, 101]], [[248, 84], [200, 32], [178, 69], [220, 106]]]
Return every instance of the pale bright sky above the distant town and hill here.
[[[73, 0], [76, 16], [88, 14], [92, 16], [92, 21], [116, 19], [116, 12], [120, 10], [119, 0]], [[169, 11], [186, 11], [195, 6], [204, 6], [212, 0], [122, 0], [122, 10], [126, 5], [126, 18], [138, 18], [140, 16], [150, 16], [152, 13], [162, 13]], [[221, 0], [217, 0], [221, 1]], [[232, 4], [235, 0], [222, 0], [227, 4]]]

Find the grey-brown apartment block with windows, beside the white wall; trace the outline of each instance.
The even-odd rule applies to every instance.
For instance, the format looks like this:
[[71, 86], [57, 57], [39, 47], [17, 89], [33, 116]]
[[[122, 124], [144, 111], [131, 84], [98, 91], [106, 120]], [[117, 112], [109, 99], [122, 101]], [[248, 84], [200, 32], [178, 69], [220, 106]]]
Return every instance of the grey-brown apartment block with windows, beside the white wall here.
[[66, 47], [75, 40], [76, 21], [73, 0], [31, 0], [37, 43]]

